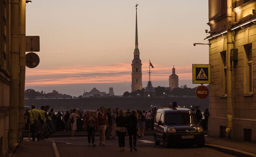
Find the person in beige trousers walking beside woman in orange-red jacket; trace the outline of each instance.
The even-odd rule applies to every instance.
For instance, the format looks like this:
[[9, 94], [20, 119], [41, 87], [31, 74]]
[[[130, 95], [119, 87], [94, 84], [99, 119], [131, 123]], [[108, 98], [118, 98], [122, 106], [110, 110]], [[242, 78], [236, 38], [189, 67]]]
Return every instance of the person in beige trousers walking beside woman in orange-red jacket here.
[[107, 114], [105, 113], [104, 107], [100, 107], [100, 112], [97, 114], [97, 120], [98, 120], [99, 131], [100, 131], [100, 145], [105, 146], [105, 131], [108, 127], [108, 117], [107, 117]]

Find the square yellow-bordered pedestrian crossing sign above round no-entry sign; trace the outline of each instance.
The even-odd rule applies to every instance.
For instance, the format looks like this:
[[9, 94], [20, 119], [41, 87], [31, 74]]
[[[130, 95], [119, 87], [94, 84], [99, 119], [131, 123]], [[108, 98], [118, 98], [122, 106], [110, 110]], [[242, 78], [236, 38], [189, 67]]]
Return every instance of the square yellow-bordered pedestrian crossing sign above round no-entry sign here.
[[204, 84], [211, 83], [211, 65], [193, 64], [193, 83]]

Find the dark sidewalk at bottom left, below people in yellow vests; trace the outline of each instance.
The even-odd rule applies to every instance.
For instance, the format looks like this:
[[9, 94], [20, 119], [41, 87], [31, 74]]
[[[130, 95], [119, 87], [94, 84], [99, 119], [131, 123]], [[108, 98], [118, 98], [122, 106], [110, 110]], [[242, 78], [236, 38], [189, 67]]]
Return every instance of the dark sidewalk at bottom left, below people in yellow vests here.
[[55, 157], [52, 140], [22, 141], [12, 157]]

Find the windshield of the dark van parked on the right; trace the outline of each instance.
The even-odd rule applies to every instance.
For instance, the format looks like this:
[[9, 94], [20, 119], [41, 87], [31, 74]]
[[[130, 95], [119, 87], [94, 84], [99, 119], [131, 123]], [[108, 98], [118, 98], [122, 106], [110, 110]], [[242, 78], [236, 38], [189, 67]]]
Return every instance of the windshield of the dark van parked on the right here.
[[196, 124], [197, 120], [192, 113], [168, 113], [165, 115], [166, 124]]

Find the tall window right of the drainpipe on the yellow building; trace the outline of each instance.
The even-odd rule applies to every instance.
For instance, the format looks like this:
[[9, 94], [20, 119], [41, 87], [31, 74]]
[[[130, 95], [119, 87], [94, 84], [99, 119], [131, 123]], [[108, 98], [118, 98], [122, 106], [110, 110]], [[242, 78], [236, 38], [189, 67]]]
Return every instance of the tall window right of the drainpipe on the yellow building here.
[[245, 77], [244, 88], [245, 94], [252, 94], [252, 43], [244, 45], [246, 59], [245, 59]]

